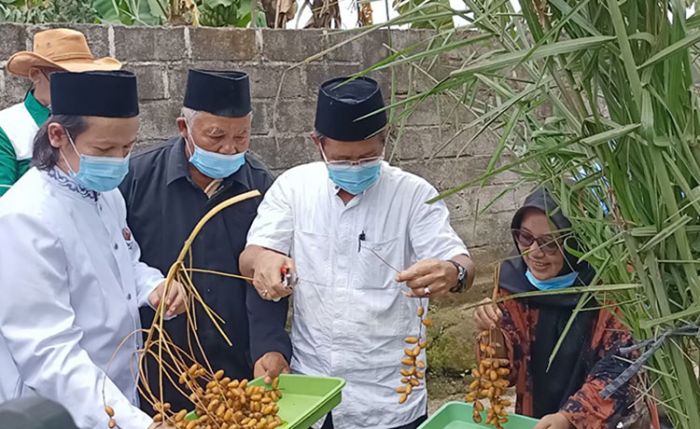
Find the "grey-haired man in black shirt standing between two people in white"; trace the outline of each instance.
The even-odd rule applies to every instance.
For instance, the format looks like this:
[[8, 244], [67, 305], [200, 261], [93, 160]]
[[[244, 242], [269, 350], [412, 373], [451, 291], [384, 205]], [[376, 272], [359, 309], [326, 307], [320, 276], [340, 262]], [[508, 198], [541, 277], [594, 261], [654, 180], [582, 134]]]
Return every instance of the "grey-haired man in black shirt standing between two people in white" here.
[[[247, 152], [251, 103], [245, 73], [190, 70], [177, 126], [179, 137], [132, 158], [120, 187], [142, 261], [164, 274], [210, 209], [250, 190], [264, 193], [273, 181], [263, 163]], [[192, 246], [192, 267], [239, 275], [238, 257], [260, 201], [235, 204], [212, 218]], [[288, 371], [286, 300], [263, 300], [247, 282], [232, 277], [195, 272], [192, 279], [204, 301], [225, 320], [223, 330], [233, 343], [228, 346], [198, 309], [197, 335], [214, 371], [223, 369], [234, 379]], [[150, 326], [153, 311], [142, 311], [141, 318]], [[176, 344], [189, 349], [185, 318], [166, 322], [166, 330]], [[204, 364], [201, 356], [198, 360]], [[151, 389], [157, 392], [153, 362], [148, 372]], [[174, 410], [193, 408], [174, 386], [165, 380], [164, 384], [164, 399]]]

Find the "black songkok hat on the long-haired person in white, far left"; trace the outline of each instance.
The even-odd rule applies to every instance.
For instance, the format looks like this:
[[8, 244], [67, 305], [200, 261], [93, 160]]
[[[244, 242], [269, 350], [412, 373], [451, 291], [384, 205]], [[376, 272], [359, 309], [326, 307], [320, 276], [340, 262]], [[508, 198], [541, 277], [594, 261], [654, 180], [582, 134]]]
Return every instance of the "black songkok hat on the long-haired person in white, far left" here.
[[136, 76], [128, 71], [51, 74], [51, 114], [133, 118], [139, 114]]

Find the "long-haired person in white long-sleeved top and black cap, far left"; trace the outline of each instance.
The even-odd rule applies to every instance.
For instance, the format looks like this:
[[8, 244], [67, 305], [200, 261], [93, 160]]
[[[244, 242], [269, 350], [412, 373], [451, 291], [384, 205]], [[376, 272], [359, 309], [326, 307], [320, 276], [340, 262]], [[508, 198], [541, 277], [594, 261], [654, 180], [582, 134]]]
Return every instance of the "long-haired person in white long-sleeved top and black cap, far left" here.
[[[162, 274], [139, 261], [116, 189], [138, 130], [136, 77], [56, 72], [53, 116], [30, 169], [0, 199], [0, 402], [40, 395], [80, 429], [153, 427], [138, 408], [139, 307], [165, 299]], [[136, 333], [136, 334], [134, 334]]]

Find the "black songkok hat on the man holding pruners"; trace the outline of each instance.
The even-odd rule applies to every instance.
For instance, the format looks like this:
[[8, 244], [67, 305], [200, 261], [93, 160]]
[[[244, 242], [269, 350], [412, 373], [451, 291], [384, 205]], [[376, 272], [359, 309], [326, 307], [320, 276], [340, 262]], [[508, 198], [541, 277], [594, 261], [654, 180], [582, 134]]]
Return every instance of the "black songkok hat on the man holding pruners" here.
[[366, 140], [386, 126], [386, 111], [375, 113], [384, 108], [382, 90], [374, 79], [349, 79], [339, 77], [321, 85], [315, 127], [334, 140]]

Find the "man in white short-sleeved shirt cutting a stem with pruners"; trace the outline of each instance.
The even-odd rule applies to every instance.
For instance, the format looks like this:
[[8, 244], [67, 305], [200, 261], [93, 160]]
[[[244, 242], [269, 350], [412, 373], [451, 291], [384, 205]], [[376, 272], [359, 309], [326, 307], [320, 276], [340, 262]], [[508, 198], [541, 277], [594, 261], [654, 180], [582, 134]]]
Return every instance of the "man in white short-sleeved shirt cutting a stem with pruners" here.
[[419, 328], [418, 298], [464, 290], [474, 266], [445, 204], [426, 203], [437, 191], [383, 161], [387, 120], [376, 113], [384, 107], [377, 82], [347, 80], [319, 91], [312, 139], [323, 162], [275, 181], [240, 268], [266, 299], [291, 293], [284, 268], [298, 275], [292, 369], [347, 381], [324, 429], [412, 429], [425, 419], [425, 388], [403, 404], [394, 389], [404, 337]]

